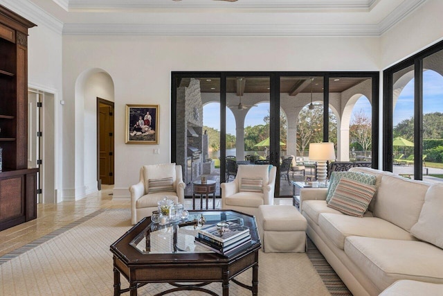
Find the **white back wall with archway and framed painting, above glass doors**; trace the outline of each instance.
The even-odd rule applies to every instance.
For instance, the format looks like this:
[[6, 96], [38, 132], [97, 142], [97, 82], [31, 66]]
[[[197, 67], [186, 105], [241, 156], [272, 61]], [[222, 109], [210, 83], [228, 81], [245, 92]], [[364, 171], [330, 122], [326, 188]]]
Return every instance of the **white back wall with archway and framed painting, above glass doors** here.
[[[66, 35], [63, 38], [65, 108], [74, 109], [75, 82], [85, 69], [94, 67], [109, 73], [115, 87], [114, 198], [127, 197], [128, 187], [138, 182], [141, 165], [170, 162], [171, 71], [378, 71], [378, 49], [376, 37]], [[126, 104], [160, 105], [158, 146], [125, 144]], [[78, 107], [75, 111], [91, 112]], [[66, 114], [64, 120], [82, 130], [83, 123], [78, 120], [84, 115], [78, 115]], [[69, 145], [64, 148], [66, 153], [74, 153], [71, 145], [82, 142], [79, 137], [81, 133], [66, 131], [64, 145]], [[84, 141], [84, 146], [84, 151], [96, 150], [95, 142]], [[160, 155], [154, 155], [153, 148], [159, 148]], [[84, 171], [79, 165], [73, 157], [64, 157], [64, 175], [69, 176], [64, 185], [80, 192], [84, 184], [74, 184], [71, 179], [76, 175], [75, 180], [80, 180], [73, 173], [74, 168]], [[89, 162], [83, 165], [91, 166]]]

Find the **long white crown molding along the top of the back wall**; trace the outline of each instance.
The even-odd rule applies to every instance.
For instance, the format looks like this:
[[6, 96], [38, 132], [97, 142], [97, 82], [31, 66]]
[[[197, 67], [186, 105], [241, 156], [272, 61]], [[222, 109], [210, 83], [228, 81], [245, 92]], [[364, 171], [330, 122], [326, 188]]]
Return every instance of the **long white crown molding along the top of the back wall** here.
[[64, 35], [379, 36], [377, 25], [65, 24]]

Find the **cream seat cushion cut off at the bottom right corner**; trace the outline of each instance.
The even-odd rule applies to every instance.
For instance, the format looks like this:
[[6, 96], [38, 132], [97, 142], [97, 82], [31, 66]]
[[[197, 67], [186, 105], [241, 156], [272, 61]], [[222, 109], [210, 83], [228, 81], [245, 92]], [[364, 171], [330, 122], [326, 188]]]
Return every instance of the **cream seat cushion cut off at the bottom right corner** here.
[[379, 296], [423, 296], [443, 295], [443, 284], [431, 284], [424, 281], [401, 279], [383, 290]]

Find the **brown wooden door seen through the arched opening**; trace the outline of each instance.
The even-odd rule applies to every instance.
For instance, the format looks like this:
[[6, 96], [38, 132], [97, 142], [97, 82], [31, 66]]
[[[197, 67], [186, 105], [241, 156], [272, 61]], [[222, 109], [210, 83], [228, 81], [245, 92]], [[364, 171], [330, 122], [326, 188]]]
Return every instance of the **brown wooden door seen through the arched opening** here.
[[100, 180], [101, 184], [114, 184], [114, 103], [99, 100], [98, 177], [100, 189]]

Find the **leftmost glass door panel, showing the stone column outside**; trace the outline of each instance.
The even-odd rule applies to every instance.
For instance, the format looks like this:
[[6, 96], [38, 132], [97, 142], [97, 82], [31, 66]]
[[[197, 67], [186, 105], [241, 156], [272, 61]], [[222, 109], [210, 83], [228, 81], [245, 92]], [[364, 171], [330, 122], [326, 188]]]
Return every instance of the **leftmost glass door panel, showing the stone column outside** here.
[[[220, 78], [198, 73], [174, 76], [172, 87], [175, 93], [174, 162], [182, 166], [185, 195], [192, 197], [194, 184], [208, 180], [215, 182], [215, 195], [219, 196]], [[196, 207], [199, 204], [197, 202]]]

